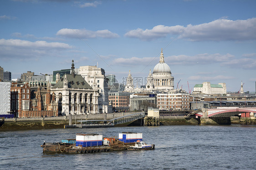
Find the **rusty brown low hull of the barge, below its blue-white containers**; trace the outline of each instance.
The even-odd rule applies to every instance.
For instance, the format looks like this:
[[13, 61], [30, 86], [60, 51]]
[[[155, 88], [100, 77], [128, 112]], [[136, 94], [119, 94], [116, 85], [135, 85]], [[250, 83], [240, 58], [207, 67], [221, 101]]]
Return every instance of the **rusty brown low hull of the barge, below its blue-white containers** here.
[[130, 146], [134, 146], [134, 145], [128, 144], [128, 145], [92, 146], [92, 147], [74, 146], [66, 143], [44, 143], [43, 145], [41, 145], [41, 147], [43, 147], [43, 153], [69, 153], [69, 154], [123, 151], [123, 150], [128, 150]]

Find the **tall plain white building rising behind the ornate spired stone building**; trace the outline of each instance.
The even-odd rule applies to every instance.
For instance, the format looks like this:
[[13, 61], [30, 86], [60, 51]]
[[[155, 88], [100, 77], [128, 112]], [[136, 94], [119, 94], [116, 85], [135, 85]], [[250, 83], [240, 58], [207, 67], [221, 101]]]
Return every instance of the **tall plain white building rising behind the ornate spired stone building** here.
[[80, 66], [78, 72], [90, 86], [95, 82], [99, 93], [98, 112], [111, 113], [112, 107], [108, 102], [108, 78], [105, 77], [105, 70], [97, 66]]

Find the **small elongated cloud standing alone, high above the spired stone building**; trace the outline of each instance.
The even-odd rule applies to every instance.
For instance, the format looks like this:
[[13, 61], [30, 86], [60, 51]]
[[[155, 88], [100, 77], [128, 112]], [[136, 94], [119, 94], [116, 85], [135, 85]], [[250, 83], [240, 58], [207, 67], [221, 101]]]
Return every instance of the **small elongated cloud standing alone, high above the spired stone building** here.
[[108, 29], [98, 31], [91, 31], [87, 29], [60, 29], [56, 35], [73, 39], [93, 39], [97, 37], [111, 39], [119, 37], [118, 34], [112, 33]]

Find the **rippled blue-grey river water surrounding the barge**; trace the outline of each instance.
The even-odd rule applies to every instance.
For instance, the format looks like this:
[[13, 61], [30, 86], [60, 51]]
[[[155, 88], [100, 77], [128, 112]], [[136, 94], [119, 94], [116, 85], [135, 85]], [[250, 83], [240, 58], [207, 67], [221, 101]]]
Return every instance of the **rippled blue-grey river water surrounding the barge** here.
[[[142, 132], [149, 151], [43, 154], [43, 141]], [[0, 132], [0, 170], [256, 170], [256, 126], [128, 126]]]

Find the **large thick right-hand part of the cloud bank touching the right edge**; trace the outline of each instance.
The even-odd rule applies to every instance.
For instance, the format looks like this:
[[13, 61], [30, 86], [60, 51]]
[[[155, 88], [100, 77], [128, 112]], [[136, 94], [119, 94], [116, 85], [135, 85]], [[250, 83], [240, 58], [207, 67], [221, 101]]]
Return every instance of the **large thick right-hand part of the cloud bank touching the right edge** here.
[[199, 25], [189, 24], [179, 38], [191, 41], [255, 40], [256, 18], [246, 20], [217, 19]]

